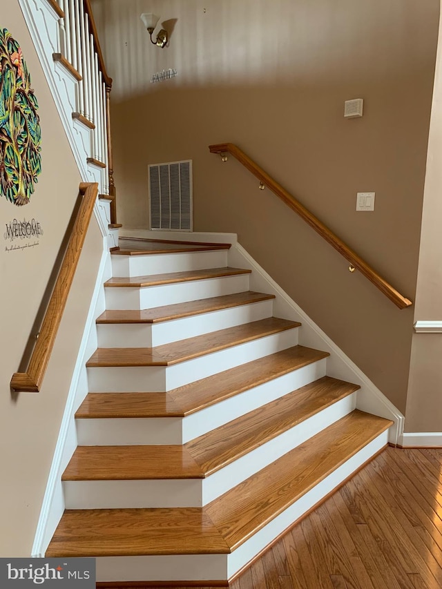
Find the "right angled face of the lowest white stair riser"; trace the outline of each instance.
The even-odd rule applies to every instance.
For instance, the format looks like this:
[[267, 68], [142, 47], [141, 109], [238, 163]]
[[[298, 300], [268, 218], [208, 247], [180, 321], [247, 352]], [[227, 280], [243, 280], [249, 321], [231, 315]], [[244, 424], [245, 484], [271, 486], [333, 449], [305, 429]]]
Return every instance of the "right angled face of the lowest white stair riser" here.
[[324, 499], [336, 487], [339, 487], [345, 479], [372, 458], [376, 452], [385, 447], [387, 442], [388, 432], [383, 432], [383, 434], [363, 447], [362, 450], [359, 450], [352, 458], [349, 458], [343, 465], [334, 470], [332, 474], [329, 474], [323, 481], [293, 503], [287, 510], [272, 519], [264, 528], [256, 532], [256, 534], [253, 534], [249, 540], [240, 545], [236, 550], [233, 550], [229, 554], [229, 579], [233, 577], [233, 574], [236, 574], [236, 572], [246, 566], [273, 539], [291, 527], [294, 521], [313, 508], [316, 503]]

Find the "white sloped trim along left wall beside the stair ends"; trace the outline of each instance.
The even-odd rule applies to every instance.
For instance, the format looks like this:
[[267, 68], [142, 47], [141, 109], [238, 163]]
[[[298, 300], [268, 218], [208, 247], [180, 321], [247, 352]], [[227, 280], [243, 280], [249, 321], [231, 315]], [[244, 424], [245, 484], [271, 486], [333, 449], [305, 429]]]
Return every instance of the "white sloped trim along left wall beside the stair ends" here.
[[90, 355], [88, 350], [88, 342], [90, 333], [95, 329], [95, 319], [98, 311], [97, 307], [100, 302], [100, 295], [104, 289], [103, 284], [105, 278], [106, 267], [110, 267], [110, 253], [107, 248], [106, 238], [103, 238], [103, 253], [102, 259], [99, 263], [97, 272], [97, 280], [93, 296], [90, 301], [90, 308], [86, 318], [86, 325], [84, 333], [81, 338], [79, 353], [73, 377], [70, 382], [68, 398], [64, 409], [63, 418], [55, 447], [54, 457], [52, 458], [52, 465], [50, 467], [48, 484], [46, 485], [46, 492], [44, 494], [43, 503], [41, 505], [39, 521], [37, 523], [37, 530], [35, 532], [34, 544], [32, 545], [32, 557], [42, 558], [48, 548], [50, 539], [52, 538], [55, 528], [64, 512], [64, 495], [61, 487], [61, 474], [66, 467], [71, 455], [72, 448], [77, 447], [77, 434], [75, 429], [75, 411], [77, 410], [77, 390], [81, 382], [81, 374], [85, 369], [85, 363], [88, 359], [86, 356]]

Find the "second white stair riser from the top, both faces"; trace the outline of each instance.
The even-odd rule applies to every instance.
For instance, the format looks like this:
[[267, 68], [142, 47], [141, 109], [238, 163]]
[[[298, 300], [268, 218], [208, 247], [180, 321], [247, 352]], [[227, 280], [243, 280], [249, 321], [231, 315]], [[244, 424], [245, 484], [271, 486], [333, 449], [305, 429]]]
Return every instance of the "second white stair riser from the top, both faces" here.
[[151, 309], [248, 290], [249, 274], [158, 284], [152, 287], [106, 287], [106, 309]]

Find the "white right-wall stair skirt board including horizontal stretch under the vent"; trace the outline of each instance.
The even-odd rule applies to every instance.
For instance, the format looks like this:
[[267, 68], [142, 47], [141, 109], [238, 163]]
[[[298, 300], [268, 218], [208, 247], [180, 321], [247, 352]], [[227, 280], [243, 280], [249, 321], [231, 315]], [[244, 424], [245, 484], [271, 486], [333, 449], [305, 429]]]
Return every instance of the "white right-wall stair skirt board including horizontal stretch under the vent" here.
[[328, 351], [327, 374], [334, 378], [349, 380], [360, 385], [356, 396], [356, 409], [391, 419], [388, 441], [396, 445], [403, 436], [404, 416], [389, 399], [372, 383], [366, 374], [338, 347], [325, 332], [303, 311], [289, 295], [269, 276], [256, 260], [238, 243], [235, 233], [177, 233], [174, 231], [126, 230], [120, 231], [122, 237], [144, 239], [176, 239], [193, 242], [230, 243], [229, 265], [252, 270], [250, 288], [273, 294], [273, 311], [279, 317], [300, 321], [299, 343]]

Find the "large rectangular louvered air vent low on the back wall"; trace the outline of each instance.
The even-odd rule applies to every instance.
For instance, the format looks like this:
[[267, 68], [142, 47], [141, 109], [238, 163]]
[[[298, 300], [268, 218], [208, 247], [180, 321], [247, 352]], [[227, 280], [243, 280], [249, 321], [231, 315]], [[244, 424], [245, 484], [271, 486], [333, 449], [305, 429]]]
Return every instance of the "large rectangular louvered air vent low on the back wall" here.
[[151, 229], [192, 231], [192, 160], [148, 170]]

